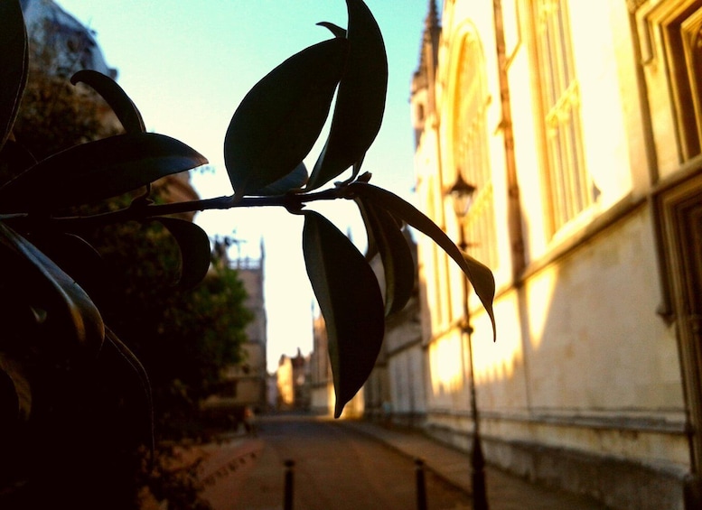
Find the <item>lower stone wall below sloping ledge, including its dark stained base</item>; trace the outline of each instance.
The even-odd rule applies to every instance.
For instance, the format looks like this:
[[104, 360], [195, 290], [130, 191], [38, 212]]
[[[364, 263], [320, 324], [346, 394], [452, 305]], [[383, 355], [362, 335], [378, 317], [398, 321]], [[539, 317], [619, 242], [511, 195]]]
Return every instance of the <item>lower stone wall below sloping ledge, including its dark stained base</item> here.
[[[502, 293], [497, 342], [482, 309], [472, 317], [488, 459], [613, 507], [675, 507], [689, 462], [675, 332], [656, 314], [648, 215], [641, 208]], [[447, 338], [435, 356], [446, 372], [430, 363], [441, 433], [471, 430], [465, 385], [446, 378], [456, 346]]]

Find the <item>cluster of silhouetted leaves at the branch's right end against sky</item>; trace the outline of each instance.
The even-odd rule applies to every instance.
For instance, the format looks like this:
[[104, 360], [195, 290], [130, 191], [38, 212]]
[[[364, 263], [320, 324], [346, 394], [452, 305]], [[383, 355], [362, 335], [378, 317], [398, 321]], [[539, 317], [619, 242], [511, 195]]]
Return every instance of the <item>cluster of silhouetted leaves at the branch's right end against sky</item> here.
[[[281, 205], [304, 217], [305, 266], [326, 323], [336, 416], [370, 375], [385, 318], [404, 308], [414, 288], [412, 256], [401, 233], [405, 224], [431, 236], [459, 264], [491, 318], [494, 295], [487, 267], [461, 253], [419, 210], [360, 173], [382, 122], [388, 61], [368, 6], [360, 0], [346, 4], [348, 28], [319, 23], [334, 38], [296, 53], [261, 79], [232, 117], [224, 144], [234, 204], [255, 205], [257, 198], [271, 204], [268, 196], [278, 194]], [[334, 94], [330, 132], [307, 177], [303, 160], [322, 132]], [[317, 191], [348, 170], [349, 179]], [[378, 254], [383, 263], [385, 302], [368, 257], [328, 219], [304, 209], [314, 199], [351, 199], [358, 205], [370, 255]]]

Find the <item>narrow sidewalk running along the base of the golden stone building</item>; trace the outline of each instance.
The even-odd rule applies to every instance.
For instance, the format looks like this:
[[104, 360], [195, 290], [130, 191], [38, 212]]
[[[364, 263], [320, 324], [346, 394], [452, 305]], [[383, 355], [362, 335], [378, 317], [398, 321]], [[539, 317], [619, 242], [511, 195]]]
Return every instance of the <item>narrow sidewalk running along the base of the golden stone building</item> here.
[[[468, 454], [438, 441], [420, 431], [388, 429], [371, 422], [340, 422], [340, 426], [374, 437], [389, 448], [413, 459], [423, 459], [427, 469], [455, 487], [471, 494], [471, 470]], [[497, 468], [485, 468], [490, 510], [605, 510], [584, 496], [575, 496], [549, 489], [511, 476]]]

